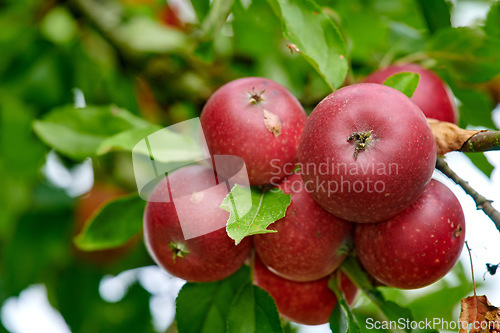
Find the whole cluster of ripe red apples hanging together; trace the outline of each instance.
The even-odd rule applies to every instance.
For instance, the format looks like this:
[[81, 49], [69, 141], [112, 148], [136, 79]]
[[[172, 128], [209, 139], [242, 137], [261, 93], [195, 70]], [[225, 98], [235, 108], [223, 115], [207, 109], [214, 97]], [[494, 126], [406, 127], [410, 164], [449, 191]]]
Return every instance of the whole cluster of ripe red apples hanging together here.
[[[382, 84], [398, 72], [420, 75], [411, 99]], [[335, 91], [309, 118], [276, 82], [232, 81], [202, 111], [208, 148], [212, 155], [243, 158], [251, 185], [272, 184], [290, 194], [286, 216], [269, 226], [277, 232], [238, 245], [224, 228], [185, 240], [173, 203], [149, 202], [148, 249], [172, 275], [207, 282], [234, 273], [254, 248], [254, 283], [274, 298], [283, 317], [309, 325], [328, 321], [337, 302], [328, 280], [349, 249], [381, 285], [427, 286], [457, 262], [465, 222], [453, 193], [431, 180], [436, 150], [426, 117], [456, 122], [456, 106], [436, 74], [413, 64]], [[168, 177], [182, 194], [195, 195], [212, 184], [214, 171], [188, 166]], [[161, 187], [153, 196], [168, 194]], [[201, 204], [196, 197], [177, 209], [200, 210], [200, 224], [226, 221], [229, 213], [218, 208], [226, 194], [214, 191]], [[357, 288], [336, 276], [352, 303]]]

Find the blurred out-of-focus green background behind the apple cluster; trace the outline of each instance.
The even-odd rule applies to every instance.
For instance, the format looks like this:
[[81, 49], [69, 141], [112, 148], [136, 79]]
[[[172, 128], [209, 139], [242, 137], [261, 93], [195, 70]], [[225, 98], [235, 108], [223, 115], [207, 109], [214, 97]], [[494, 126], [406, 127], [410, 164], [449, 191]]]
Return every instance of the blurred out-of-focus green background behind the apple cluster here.
[[[317, 3], [345, 40], [346, 83], [397, 60], [419, 62], [451, 86], [462, 127], [495, 129], [492, 110], [500, 99], [498, 2]], [[164, 127], [197, 117], [213, 91], [244, 76], [283, 84], [310, 112], [331, 88], [287, 45], [273, 4], [0, 0], [0, 304], [29, 286], [43, 285], [72, 332], [155, 331], [150, 311], [154, 288], [132, 279], [119, 301], [102, 297], [103, 277], [154, 264], [140, 235], [114, 252], [84, 253], [72, 243], [99, 203], [136, 191], [130, 150], [72, 154], [61, 147], [75, 144], [65, 142], [68, 137], [76, 143], [100, 143], [133, 128], [138, 119]], [[461, 25], [469, 27], [457, 28]], [[306, 29], [308, 33], [313, 32]], [[136, 118], [128, 127], [115, 128], [106, 117], [54, 116], [58, 108], [66, 106], [71, 115], [75, 106], [85, 105], [115, 105]], [[56, 118], [59, 127], [45, 128], [55, 143], [47, 141], [50, 135], [40, 135], [41, 140], [34, 121]], [[491, 175], [493, 166], [483, 154], [471, 158]], [[94, 186], [89, 194], [92, 184], [104, 189]], [[176, 290], [175, 283], [172, 288]], [[448, 319], [456, 316], [452, 311], [457, 300], [470, 292], [461, 265], [430, 294], [384, 291], [409, 304], [416, 318], [432, 313]], [[360, 318], [378, 316], [364, 299], [359, 304]]]

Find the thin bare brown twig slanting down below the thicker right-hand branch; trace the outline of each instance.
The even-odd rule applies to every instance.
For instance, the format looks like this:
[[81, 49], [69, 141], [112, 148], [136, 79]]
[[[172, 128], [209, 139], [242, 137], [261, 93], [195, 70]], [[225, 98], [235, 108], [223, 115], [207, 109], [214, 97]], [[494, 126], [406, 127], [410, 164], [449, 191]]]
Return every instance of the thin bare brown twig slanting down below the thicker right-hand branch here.
[[448, 163], [445, 162], [444, 158], [438, 157], [436, 160], [436, 169], [441, 171], [448, 178], [453, 180], [456, 184], [474, 199], [477, 209], [481, 209], [488, 217], [495, 223], [496, 228], [500, 231], [500, 212], [497, 211], [492, 205], [492, 201], [486, 199], [481, 194], [477, 193], [469, 183], [462, 178], [460, 178], [451, 168]]

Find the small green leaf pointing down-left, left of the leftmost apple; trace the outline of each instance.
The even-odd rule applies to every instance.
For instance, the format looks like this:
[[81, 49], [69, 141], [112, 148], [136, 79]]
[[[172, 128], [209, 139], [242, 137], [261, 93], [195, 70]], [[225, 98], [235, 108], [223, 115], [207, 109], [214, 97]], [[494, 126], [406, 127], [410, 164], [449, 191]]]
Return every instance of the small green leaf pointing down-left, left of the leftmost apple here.
[[75, 244], [86, 251], [125, 244], [142, 229], [144, 205], [137, 194], [109, 202], [75, 236]]

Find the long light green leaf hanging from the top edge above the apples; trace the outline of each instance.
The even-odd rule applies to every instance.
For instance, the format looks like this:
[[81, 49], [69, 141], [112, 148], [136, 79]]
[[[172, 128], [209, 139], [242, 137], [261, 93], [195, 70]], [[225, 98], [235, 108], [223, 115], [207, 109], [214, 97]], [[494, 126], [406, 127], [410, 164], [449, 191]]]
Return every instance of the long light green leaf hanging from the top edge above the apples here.
[[295, 44], [332, 90], [340, 87], [348, 63], [344, 39], [332, 18], [313, 1], [278, 0], [278, 3], [285, 38]]

